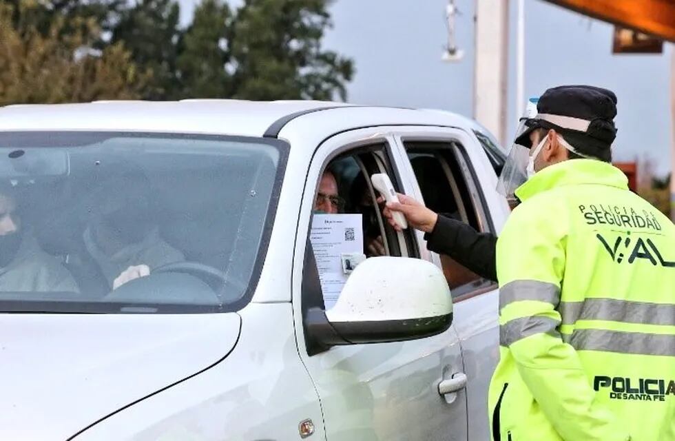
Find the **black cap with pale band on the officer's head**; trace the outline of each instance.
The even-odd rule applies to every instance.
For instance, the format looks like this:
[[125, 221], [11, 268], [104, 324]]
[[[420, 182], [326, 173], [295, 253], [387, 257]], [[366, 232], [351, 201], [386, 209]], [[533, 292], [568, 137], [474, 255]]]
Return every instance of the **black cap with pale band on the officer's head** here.
[[516, 143], [530, 147], [530, 132], [537, 128], [559, 132], [579, 153], [599, 159], [611, 157], [616, 138], [616, 95], [591, 85], [550, 88], [537, 102], [537, 116], [526, 121], [528, 130]]

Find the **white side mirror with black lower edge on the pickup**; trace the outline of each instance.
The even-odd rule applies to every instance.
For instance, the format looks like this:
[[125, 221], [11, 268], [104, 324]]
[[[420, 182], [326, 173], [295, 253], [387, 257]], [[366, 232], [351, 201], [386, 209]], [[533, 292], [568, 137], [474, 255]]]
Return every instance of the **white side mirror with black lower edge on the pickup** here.
[[443, 271], [403, 257], [364, 260], [333, 308], [310, 308], [306, 316], [311, 338], [324, 349], [424, 338], [446, 331], [452, 321], [453, 300]]

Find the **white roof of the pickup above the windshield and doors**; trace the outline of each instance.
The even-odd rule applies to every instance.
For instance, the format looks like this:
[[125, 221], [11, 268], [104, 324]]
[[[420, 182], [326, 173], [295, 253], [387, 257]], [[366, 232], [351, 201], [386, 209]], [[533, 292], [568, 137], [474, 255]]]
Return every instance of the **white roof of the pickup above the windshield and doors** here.
[[[358, 107], [344, 118], [346, 107]], [[365, 108], [368, 112], [364, 112]], [[1, 131], [185, 132], [238, 136], [276, 136], [303, 114], [340, 110], [331, 130], [368, 125], [471, 125], [450, 112], [362, 106], [331, 101], [94, 101], [75, 104], [19, 104], [0, 107]], [[364, 118], [364, 115], [367, 115]], [[337, 116], [337, 114], [336, 114]], [[364, 121], [360, 121], [363, 119]], [[366, 121], [367, 120], [367, 121]]]

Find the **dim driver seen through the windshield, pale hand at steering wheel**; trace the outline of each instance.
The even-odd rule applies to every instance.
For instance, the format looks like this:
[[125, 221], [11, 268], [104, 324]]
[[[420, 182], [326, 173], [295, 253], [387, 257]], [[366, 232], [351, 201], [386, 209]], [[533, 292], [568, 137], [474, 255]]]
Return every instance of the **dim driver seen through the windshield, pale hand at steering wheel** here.
[[96, 205], [83, 239], [111, 289], [185, 260], [183, 253], [160, 237], [145, 176], [109, 178], [94, 195]]

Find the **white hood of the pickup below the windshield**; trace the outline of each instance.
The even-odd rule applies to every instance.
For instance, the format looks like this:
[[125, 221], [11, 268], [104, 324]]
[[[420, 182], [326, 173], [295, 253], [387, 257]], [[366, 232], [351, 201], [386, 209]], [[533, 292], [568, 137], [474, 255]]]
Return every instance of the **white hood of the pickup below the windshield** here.
[[64, 440], [218, 362], [239, 328], [234, 313], [2, 314], [0, 438]]

